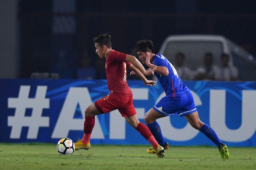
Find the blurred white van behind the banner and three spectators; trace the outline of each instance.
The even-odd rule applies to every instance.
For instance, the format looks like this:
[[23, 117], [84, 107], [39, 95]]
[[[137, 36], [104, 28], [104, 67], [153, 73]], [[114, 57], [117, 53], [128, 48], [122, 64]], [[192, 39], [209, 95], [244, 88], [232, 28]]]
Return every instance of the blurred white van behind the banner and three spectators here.
[[240, 81], [256, 81], [255, 58], [223, 36], [172, 35], [167, 37], [159, 53], [173, 63], [176, 52], [184, 53], [186, 66], [193, 70], [203, 66], [205, 53], [212, 53], [214, 64], [218, 66], [221, 63], [221, 54], [227, 53], [230, 56], [230, 65], [238, 68]]

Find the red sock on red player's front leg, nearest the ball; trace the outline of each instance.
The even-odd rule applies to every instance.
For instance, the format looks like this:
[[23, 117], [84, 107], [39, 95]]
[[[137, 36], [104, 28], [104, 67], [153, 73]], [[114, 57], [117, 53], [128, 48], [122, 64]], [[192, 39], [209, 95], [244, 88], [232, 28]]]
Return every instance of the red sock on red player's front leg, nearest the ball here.
[[82, 138], [83, 143], [87, 144], [88, 142], [90, 142], [91, 132], [93, 131], [94, 125], [95, 125], [95, 116], [93, 117], [85, 116], [84, 136]]

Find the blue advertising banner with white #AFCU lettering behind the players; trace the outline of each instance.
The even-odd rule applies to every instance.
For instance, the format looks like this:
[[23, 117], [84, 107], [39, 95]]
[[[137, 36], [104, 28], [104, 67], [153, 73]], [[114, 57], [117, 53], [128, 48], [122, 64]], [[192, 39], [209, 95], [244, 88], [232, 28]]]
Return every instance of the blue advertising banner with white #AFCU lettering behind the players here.
[[[256, 146], [256, 82], [185, 81], [200, 119], [228, 146]], [[138, 118], [165, 93], [128, 80]], [[109, 94], [106, 80], [0, 79], [0, 142], [57, 142], [83, 136], [85, 109]], [[179, 115], [158, 119], [170, 145], [214, 146]], [[148, 144], [118, 111], [98, 115], [91, 144]]]

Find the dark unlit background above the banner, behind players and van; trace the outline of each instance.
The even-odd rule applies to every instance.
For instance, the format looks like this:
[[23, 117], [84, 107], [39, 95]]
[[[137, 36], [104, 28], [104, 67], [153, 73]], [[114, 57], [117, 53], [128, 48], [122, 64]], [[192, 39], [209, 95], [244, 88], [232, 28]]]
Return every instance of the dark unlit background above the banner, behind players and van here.
[[111, 35], [113, 49], [128, 54], [140, 39], [151, 39], [157, 52], [169, 35], [214, 34], [256, 56], [255, 6], [229, 0], [20, 0], [19, 77], [57, 72], [76, 78], [81, 58], [98, 60], [93, 38], [102, 33]]

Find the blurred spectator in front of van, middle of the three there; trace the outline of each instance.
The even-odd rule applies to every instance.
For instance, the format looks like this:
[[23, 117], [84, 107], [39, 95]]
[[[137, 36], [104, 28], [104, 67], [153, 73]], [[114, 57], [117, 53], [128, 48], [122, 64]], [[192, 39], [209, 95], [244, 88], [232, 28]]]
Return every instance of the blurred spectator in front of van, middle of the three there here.
[[218, 67], [213, 65], [212, 53], [208, 52], [204, 54], [203, 67], [199, 67], [196, 70], [196, 76], [194, 80], [216, 80], [216, 71]]

